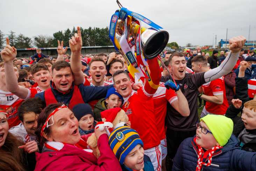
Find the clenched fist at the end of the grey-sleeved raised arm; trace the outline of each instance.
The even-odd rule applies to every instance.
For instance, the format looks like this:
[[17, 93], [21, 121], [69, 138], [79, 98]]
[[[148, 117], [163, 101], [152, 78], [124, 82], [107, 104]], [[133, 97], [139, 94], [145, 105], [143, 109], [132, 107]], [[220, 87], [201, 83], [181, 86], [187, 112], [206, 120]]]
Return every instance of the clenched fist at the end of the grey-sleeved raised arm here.
[[232, 37], [229, 39], [229, 49], [233, 53], [240, 52], [241, 49], [243, 48], [244, 43], [246, 43], [245, 37], [243, 36]]

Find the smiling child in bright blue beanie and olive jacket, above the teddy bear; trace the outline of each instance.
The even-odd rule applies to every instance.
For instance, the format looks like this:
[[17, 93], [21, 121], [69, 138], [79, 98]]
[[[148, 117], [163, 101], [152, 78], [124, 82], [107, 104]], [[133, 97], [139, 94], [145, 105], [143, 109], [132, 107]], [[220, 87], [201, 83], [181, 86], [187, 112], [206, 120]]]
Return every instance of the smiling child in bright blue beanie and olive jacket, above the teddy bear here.
[[100, 99], [94, 107], [95, 120], [101, 121], [100, 112], [114, 107], [121, 107], [123, 97], [115, 90], [114, 87], [109, 88], [105, 98]]

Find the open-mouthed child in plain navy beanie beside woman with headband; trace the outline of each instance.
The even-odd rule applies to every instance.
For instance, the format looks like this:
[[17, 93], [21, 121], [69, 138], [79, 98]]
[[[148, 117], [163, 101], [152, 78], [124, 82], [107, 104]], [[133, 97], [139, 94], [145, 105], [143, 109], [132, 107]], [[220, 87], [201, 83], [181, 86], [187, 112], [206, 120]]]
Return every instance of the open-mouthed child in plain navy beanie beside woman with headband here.
[[97, 122], [94, 120], [91, 106], [81, 103], [74, 106], [72, 111], [78, 120], [80, 135], [93, 133]]

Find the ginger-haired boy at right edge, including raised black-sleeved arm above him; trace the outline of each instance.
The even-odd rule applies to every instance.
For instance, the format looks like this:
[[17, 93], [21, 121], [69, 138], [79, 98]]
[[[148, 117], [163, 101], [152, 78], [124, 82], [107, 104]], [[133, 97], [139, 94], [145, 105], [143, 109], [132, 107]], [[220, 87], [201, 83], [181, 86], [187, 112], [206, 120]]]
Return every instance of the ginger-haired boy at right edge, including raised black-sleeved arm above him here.
[[[239, 141], [242, 150], [256, 152], [256, 100], [249, 100], [248, 84], [245, 71], [248, 67], [246, 61], [242, 61], [239, 67], [239, 75], [236, 81], [236, 99], [226, 111], [226, 116], [233, 120], [233, 134]], [[237, 116], [242, 112], [241, 117]]]

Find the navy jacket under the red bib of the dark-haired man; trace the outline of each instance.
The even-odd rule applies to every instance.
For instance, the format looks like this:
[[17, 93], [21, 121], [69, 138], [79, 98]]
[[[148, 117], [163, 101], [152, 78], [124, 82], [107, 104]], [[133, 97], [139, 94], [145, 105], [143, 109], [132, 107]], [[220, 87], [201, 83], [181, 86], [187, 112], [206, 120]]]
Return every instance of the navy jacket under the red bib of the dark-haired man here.
[[[50, 86], [51, 86], [51, 90], [52, 90], [56, 100], [60, 103], [68, 105], [72, 98], [72, 95], [73, 95], [74, 84], [73, 84], [73, 88], [71, 89], [71, 91], [66, 94], [63, 94], [63, 93], [59, 92], [58, 90], [56, 90], [52, 86], [52, 82], [50, 83]], [[85, 103], [88, 103], [89, 101], [92, 101], [92, 100], [98, 100], [98, 99], [102, 99], [102, 98], [106, 97], [107, 90], [111, 87], [113, 87], [113, 85], [104, 86], [104, 87], [97, 87], [97, 86], [94, 87], [94, 86], [84, 86], [83, 84], [80, 84], [78, 86]], [[42, 99], [42, 101], [45, 102], [44, 92], [37, 93], [35, 95], [35, 97], [39, 97], [40, 99]]]

